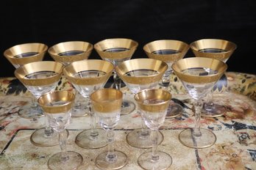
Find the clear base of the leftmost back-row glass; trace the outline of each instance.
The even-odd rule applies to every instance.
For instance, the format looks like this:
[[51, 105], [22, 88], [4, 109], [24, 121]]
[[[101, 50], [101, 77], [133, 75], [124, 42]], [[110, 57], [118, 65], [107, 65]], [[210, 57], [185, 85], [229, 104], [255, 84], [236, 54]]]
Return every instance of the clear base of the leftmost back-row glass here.
[[43, 117], [43, 110], [40, 106], [32, 107], [31, 104], [21, 107], [18, 111], [18, 116], [24, 119], [35, 119]]

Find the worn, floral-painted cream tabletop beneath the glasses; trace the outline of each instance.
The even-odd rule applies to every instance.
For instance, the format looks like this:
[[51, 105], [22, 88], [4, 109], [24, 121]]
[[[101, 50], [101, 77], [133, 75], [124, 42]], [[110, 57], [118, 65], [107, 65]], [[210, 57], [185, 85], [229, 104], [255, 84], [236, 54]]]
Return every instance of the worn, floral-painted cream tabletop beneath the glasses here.
[[[216, 144], [206, 149], [191, 149], [178, 140], [179, 132], [193, 127], [192, 100], [181, 82], [171, 76], [169, 90], [174, 98], [182, 101], [185, 111], [182, 117], [166, 119], [160, 128], [164, 140], [158, 147], [171, 155], [169, 169], [256, 169], [256, 75], [227, 72], [215, 86], [214, 97], [222, 101], [228, 111], [223, 117], [201, 119], [202, 127], [213, 130]], [[111, 84], [108, 84], [111, 85]], [[71, 84], [62, 78], [57, 90], [72, 90]], [[127, 87], [122, 92], [133, 100]], [[48, 169], [47, 161], [59, 146], [36, 147], [29, 138], [35, 129], [44, 127], [44, 118], [24, 119], [18, 116], [21, 106], [29, 103], [29, 92], [15, 78], [0, 78], [0, 169]], [[141, 153], [151, 149], [137, 149], [126, 142], [127, 133], [141, 127], [141, 117], [136, 111], [121, 116], [115, 127], [115, 149], [128, 155], [129, 163], [123, 169], [141, 169], [137, 160]], [[68, 126], [67, 149], [79, 152], [84, 158], [79, 169], [98, 169], [94, 165], [96, 155], [107, 149], [82, 149], [74, 143], [79, 132], [90, 128], [89, 117], [72, 118]]]

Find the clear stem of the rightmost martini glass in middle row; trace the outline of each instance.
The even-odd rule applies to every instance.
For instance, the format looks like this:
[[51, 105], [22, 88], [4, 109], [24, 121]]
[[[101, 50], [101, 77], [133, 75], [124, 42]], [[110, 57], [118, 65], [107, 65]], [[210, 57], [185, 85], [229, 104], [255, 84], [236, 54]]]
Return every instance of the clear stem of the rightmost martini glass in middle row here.
[[196, 137], [202, 136], [202, 133], [200, 131], [200, 119], [201, 119], [202, 106], [203, 106], [203, 101], [201, 99], [196, 100], [196, 102], [194, 103], [196, 125], [193, 128], [193, 136], [196, 136]]

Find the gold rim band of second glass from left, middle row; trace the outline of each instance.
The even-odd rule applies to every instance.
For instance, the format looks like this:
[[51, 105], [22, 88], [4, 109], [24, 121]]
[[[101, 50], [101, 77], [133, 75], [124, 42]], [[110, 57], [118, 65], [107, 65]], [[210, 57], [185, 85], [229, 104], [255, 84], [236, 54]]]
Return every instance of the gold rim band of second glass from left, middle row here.
[[[76, 73], [86, 71], [86, 70], [98, 70], [102, 71], [105, 74], [97, 77], [90, 77], [90, 78], [76, 78], [74, 75]], [[81, 60], [77, 62], [72, 62], [68, 64], [63, 69], [63, 74], [68, 81], [71, 81], [72, 84], [89, 86], [95, 84], [102, 84], [110, 78], [114, 70], [114, 65], [110, 62], [101, 60], [101, 59], [88, 59], [88, 60]]]

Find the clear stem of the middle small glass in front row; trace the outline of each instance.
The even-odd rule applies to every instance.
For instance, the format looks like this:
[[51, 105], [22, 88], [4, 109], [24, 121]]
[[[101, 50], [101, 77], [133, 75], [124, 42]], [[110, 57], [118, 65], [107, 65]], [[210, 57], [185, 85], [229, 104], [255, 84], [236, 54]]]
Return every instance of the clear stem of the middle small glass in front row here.
[[116, 155], [114, 152], [114, 140], [115, 133], [113, 129], [107, 129], [107, 155], [106, 159], [108, 162], [114, 162], [116, 160]]

